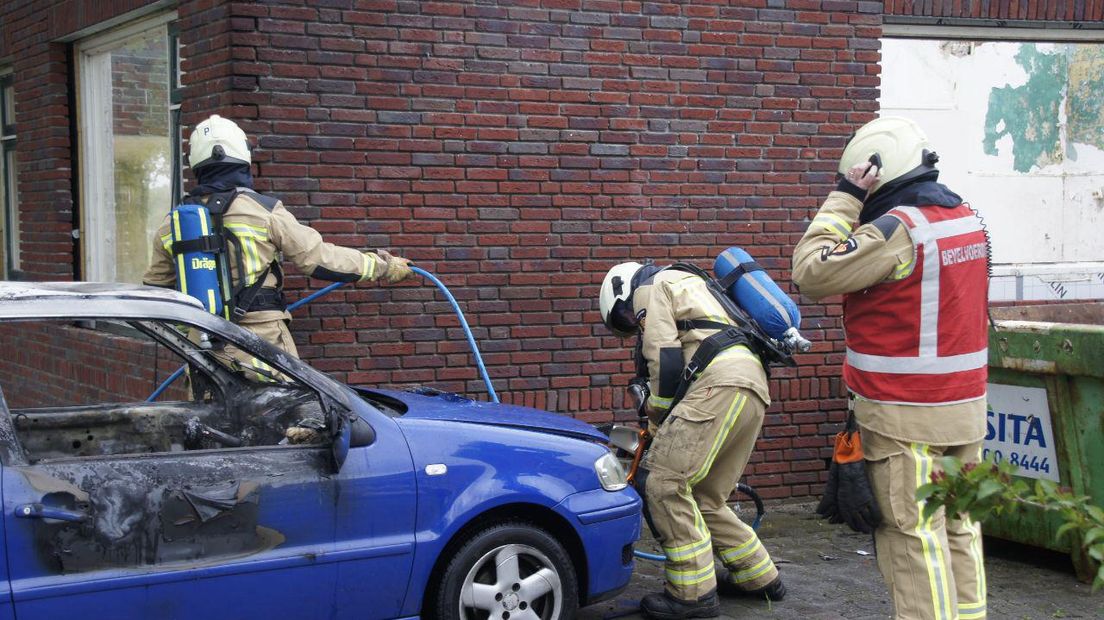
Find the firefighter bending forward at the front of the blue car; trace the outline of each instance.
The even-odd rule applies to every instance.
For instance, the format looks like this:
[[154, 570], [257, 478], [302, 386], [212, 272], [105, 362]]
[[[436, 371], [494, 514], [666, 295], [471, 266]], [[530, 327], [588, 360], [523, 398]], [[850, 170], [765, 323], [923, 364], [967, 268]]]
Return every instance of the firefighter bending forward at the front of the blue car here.
[[[640, 601], [649, 618], [713, 618], [718, 592], [779, 600], [785, 586], [755, 532], [728, 505], [771, 396], [760, 357], [735, 334], [723, 340], [689, 388], [688, 362], [709, 336], [737, 332], [698, 275], [637, 263], [613, 267], [599, 293], [605, 325], [637, 333], [638, 374], [650, 395], [655, 439], [643, 463], [652, 525], [667, 556], [666, 588]], [[699, 321], [696, 323], [696, 321]], [[710, 348], [712, 350], [712, 348]], [[679, 394], [682, 394], [680, 399]], [[640, 474], [638, 474], [639, 477]], [[714, 554], [726, 570], [716, 575]]]

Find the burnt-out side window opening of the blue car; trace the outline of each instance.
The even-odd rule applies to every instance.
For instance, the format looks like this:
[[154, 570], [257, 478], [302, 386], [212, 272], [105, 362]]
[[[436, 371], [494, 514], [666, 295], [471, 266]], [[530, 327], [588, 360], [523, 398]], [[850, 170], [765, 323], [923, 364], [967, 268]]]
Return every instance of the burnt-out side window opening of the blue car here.
[[[179, 325], [156, 320], [82, 324], [0, 322], [0, 345], [8, 351], [0, 357], [0, 391], [31, 463], [295, 445], [289, 428], [301, 437], [302, 429], [327, 425], [318, 394], [302, 383], [223, 365], [230, 344], [217, 334], [192, 328], [188, 340]], [[128, 335], [119, 335], [124, 331]], [[194, 363], [197, 355], [209, 366]], [[188, 377], [148, 402], [184, 363]]]

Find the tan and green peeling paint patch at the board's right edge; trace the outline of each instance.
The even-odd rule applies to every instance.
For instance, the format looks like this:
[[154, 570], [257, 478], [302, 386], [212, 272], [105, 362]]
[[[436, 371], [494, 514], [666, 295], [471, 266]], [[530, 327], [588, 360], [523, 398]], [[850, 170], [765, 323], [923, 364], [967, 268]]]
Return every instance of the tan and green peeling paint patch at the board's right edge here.
[[1066, 96], [1069, 139], [1104, 150], [1104, 49], [1071, 47]]

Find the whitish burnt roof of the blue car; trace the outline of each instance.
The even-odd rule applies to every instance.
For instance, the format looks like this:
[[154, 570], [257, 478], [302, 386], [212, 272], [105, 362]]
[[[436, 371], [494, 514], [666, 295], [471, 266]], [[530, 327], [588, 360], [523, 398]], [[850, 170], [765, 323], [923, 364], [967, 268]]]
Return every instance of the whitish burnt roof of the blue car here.
[[170, 301], [203, 309], [194, 297], [172, 289], [120, 282], [10, 282], [0, 281], [0, 316], [4, 301], [74, 301], [87, 303], [118, 301]]

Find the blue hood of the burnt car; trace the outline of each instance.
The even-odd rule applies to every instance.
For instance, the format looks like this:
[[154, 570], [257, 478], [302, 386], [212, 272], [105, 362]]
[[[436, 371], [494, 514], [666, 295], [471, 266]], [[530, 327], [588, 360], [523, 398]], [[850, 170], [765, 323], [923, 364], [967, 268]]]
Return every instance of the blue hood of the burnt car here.
[[605, 443], [608, 438], [593, 426], [558, 414], [540, 409], [470, 400], [456, 394], [440, 393], [421, 395], [410, 392], [393, 392], [389, 389], [364, 389], [368, 394], [376, 393], [402, 400], [407, 411], [399, 419], [429, 419], [490, 426], [506, 426], [555, 435], [566, 435], [580, 439], [592, 439]]

